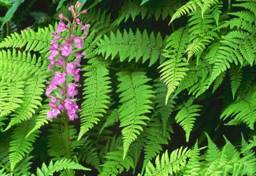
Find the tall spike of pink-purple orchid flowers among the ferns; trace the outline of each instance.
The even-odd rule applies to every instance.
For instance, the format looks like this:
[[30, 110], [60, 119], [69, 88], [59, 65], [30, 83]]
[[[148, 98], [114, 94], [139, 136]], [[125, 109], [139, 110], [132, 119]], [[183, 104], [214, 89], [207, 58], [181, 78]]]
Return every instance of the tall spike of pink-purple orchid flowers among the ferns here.
[[[50, 98], [49, 105], [51, 111], [47, 112], [47, 117], [52, 119], [61, 114], [63, 117], [68, 117], [71, 121], [77, 119], [79, 116], [77, 112], [81, 111], [76, 103], [77, 98], [73, 98], [78, 94], [77, 87], [81, 87], [79, 84], [75, 84], [70, 81], [67, 82], [69, 77], [73, 78], [73, 81], [78, 82], [80, 79], [81, 68], [80, 59], [84, 57], [85, 53], [76, 53], [74, 50], [82, 49], [84, 46], [83, 36], [75, 36], [72, 32], [73, 29], [81, 28], [84, 35], [88, 35], [86, 28], [89, 28], [89, 24], [81, 24], [81, 20], [78, 18], [80, 14], [85, 14], [86, 10], [78, 11], [81, 6], [81, 2], [77, 2], [75, 6], [68, 8], [72, 12], [73, 20], [69, 20], [63, 14], [59, 15], [61, 21], [56, 27], [56, 32], [52, 32], [53, 39], [51, 40], [51, 47], [49, 48], [48, 59], [50, 64], [48, 70], [53, 70], [53, 78], [51, 82], [47, 81], [49, 88], [46, 89], [46, 96]], [[69, 24], [65, 24], [68, 22]], [[65, 33], [62, 35], [62, 33]], [[65, 36], [68, 37], [65, 38]], [[76, 61], [68, 62], [68, 59], [76, 58]], [[59, 90], [59, 93], [56, 92]], [[52, 96], [56, 93], [56, 96]]]

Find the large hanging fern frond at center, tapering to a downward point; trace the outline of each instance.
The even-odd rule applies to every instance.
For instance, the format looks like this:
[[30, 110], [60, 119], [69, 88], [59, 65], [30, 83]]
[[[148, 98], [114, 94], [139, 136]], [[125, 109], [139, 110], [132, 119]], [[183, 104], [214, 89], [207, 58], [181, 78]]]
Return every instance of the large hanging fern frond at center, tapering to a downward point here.
[[122, 105], [119, 108], [120, 127], [123, 135], [123, 159], [130, 144], [137, 138], [141, 131], [142, 125], [146, 125], [144, 121], [149, 118], [144, 114], [149, 113], [149, 100], [153, 97], [151, 86], [146, 83], [150, 81], [145, 72], [119, 72], [117, 92], [121, 92], [120, 101]]

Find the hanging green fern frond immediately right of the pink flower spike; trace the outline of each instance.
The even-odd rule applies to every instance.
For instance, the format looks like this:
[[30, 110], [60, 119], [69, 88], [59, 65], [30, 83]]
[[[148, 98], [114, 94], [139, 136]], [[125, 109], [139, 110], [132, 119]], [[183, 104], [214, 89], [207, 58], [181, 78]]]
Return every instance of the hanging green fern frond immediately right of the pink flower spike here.
[[100, 121], [99, 117], [102, 117], [103, 113], [106, 113], [105, 109], [108, 109], [106, 104], [109, 103], [108, 93], [110, 92], [109, 70], [102, 63], [84, 67], [84, 70], [86, 79], [82, 93], [84, 102], [81, 106], [81, 127], [78, 140]]

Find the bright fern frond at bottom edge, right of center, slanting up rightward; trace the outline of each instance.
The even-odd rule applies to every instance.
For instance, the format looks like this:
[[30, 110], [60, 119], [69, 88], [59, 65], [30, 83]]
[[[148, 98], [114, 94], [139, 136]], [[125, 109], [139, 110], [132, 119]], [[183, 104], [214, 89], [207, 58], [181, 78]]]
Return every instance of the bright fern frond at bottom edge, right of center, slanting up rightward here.
[[179, 149], [176, 149], [175, 151], [172, 151], [170, 154], [170, 157], [168, 155], [168, 151], [166, 151], [161, 159], [158, 155], [155, 159], [155, 165], [154, 166], [151, 162], [148, 162], [146, 167], [146, 173], [147, 175], [169, 175], [177, 173], [177, 171], [180, 170], [181, 166], [184, 166], [187, 163], [187, 158], [191, 155], [191, 149], [181, 147]]

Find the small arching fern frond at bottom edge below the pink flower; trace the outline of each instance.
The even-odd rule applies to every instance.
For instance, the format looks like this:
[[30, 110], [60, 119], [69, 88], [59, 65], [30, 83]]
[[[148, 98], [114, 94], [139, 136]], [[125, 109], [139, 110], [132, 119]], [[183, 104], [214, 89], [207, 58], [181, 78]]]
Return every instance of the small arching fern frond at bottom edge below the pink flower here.
[[48, 166], [43, 163], [41, 169], [36, 169], [36, 174], [38, 174], [38, 176], [53, 175], [53, 173], [64, 169], [90, 170], [74, 161], [68, 159], [61, 159], [54, 162], [54, 164], [52, 161], [50, 161]]

